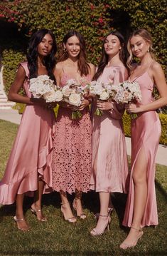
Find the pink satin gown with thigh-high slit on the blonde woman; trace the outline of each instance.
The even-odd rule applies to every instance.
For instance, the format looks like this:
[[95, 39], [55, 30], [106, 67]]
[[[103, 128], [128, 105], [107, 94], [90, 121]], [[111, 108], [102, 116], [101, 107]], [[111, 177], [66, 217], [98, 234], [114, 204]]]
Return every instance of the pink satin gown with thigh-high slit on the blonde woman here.
[[[148, 70], [141, 76], [133, 79], [139, 83], [142, 95], [142, 104], [151, 103], [153, 101], [153, 81], [149, 76]], [[161, 123], [156, 111], [147, 111], [139, 113], [138, 118], [131, 120], [131, 176], [129, 182], [129, 195], [127, 198], [126, 209], [124, 214], [123, 225], [131, 227], [134, 213], [134, 182], [132, 174], [134, 165], [139, 156], [140, 150], [144, 150], [147, 170], [147, 199], [144, 210], [144, 216], [141, 226], [158, 225], [158, 214], [156, 205], [155, 190], [155, 172], [156, 172], [156, 152], [158, 150], [159, 138], [161, 135]]]

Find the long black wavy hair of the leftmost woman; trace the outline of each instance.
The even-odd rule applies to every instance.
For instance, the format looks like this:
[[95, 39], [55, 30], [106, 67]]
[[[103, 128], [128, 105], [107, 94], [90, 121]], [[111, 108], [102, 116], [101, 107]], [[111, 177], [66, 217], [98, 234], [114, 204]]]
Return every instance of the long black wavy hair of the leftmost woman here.
[[44, 57], [44, 63], [48, 71], [48, 76], [55, 81], [55, 77], [53, 76], [53, 68], [55, 68], [56, 63], [55, 53], [57, 51], [57, 46], [53, 32], [48, 29], [40, 29], [31, 36], [27, 53], [28, 69], [30, 72], [30, 78], [36, 78], [38, 76], [38, 44], [41, 43], [45, 34], [49, 34], [52, 37], [53, 47], [50, 54]]

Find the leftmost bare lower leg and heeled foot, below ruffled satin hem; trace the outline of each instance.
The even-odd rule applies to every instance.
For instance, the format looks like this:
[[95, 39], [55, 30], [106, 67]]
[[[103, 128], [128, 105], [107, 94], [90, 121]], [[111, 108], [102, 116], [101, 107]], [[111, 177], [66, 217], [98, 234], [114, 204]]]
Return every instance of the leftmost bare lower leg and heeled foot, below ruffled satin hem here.
[[23, 215], [23, 198], [24, 194], [16, 195], [16, 216], [14, 220], [17, 223], [18, 230], [27, 231], [29, 227]]

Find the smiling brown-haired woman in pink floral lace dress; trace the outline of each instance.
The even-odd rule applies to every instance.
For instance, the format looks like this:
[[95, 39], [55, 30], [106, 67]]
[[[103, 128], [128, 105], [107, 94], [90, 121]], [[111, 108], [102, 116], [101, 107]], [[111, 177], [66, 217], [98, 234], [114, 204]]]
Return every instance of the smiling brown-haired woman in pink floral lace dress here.
[[[89, 82], [94, 76], [94, 66], [87, 63], [85, 41], [77, 31], [70, 31], [63, 39], [63, 49], [55, 68], [58, 86], [65, 86], [66, 81], [75, 79], [81, 83]], [[53, 142], [53, 189], [60, 192], [61, 211], [65, 220], [76, 222], [72, 214], [66, 193], [75, 193], [73, 208], [77, 216], [84, 219], [82, 211], [82, 192], [90, 190], [92, 159], [92, 126], [90, 121], [90, 101], [86, 98], [78, 108], [82, 118], [72, 120], [74, 107], [61, 103], [55, 123]], [[76, 110], [76, 108], [75, 108]]]

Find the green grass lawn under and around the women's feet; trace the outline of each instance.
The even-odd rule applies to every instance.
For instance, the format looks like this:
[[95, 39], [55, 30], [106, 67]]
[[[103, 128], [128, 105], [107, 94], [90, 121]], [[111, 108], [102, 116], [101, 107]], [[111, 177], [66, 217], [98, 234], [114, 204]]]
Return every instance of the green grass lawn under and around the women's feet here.
[[[3, 176], [6, 160], [9, 157], [18, 126], [0, 120], [0, 178]], [[58, 193], [43, 195], [43, 212], [48, 222], [38, 222], [31, 214], [31, 198], [25, 200], [26, 220], [31, 226], [29, 232], [17, 230], [14, 223], [15, 205], [0, 208], [0, 255], [167, 255], [166, 246], [166, 215], [167, 215], [167, 167], [157, 165], [156, 195], [158, 200], [158, 227], [145, 227], [144, 236], [133, 249], [122, 251], [119, 245], [126, 237], [121, 226], [125, 196], [112, 195], [115, 206], [109, 232], [99, 237], [92, 237], [90, 230], [95, 227], [94, 213], [99, 210], [99, 200], [96, 193], [83, 196], [86, 220], [78, 220], [70, 224], [60, 215], [60, 198]], [[70, 200], [72, 201], [73, 195]]]

